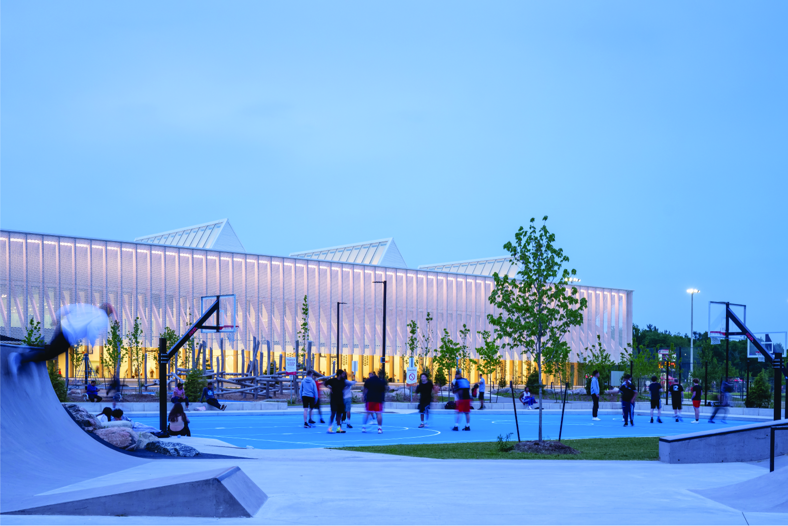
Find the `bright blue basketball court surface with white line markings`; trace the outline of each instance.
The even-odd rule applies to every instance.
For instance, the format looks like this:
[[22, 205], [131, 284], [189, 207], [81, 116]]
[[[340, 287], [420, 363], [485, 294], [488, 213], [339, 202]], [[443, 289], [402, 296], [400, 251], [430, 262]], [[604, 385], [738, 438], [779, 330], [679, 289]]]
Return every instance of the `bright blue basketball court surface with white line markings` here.
[[[194, 413], [190, 413], [194, 415]], [[328, 414], [324, 413], [325, 418]], [[518, 415], [520, 437], [522, 440], [538, 438], [538, 414], [529, 412]], [[672, 418], [664, 418], [663, 423], [649, 423], [649, 417], [636, 416], [634, 427], [623, 427], [621, 416], [600, 416], [599, 422], [592, 422], [587, 415], [567, 415], [563, 420], [561, 438], [612, 438], [612, 437], [646, 437], [682, 435], [696, 431], [708, 431], [742, 425], [743, 422], [728, 420], [727, 423], [690, 423], [675, 422]], [[140, 423], [158, 427], [158, 418], [139, 418]], [[317, 420], [315, 416], [315, 420]], [[318, 420], [319, 421], [319, 420]], [[461, 420], [460, 429], [465, 419]], [[656, 421], [656, 420], [655, 420]], [[557, 439], [559, 432], [559, 415], [543, 416], [543, 435], [546, 439]], [[489, 414], [473, 412], [470, 420], [470, 431], [452, 431], [453, 414], [433, 415], [429, 427], [419, 428], [418, 414], [385, 413], [383, 415], [383, 433], [377, 434], [377, 422], [370, 420], [367, 432], [362, 433], [362, 415], [354, 413], [352, 429], [347, 433], [336, 435], [326, 433], [328, 424], [318, 423], [317, 427], [305, 429], [300, 413], [292, 415], [272, 416], [193, 416], [191, 418], [191, 435], [203, 438], [217, 438], [234, 446], [254, 446], [255, 449], [299, 449], [314, 447], [338, 446], [381, 446], [390, 444], [440, 444], [448, 442], [495, 442], [498, 435], [504, 437], [511, 433], [511, 439], [517, 439], [515, 416], [511, 414]], [[184, 439], [188, 441], [188, 438]], [[188, 443], [188, 442], [187, 442]]]

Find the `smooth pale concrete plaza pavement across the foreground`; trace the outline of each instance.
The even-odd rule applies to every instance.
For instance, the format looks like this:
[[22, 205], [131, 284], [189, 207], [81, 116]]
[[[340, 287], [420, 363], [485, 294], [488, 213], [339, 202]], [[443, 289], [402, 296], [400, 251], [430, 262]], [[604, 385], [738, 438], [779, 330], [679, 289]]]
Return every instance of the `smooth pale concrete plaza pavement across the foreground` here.
[[[189, 440], [180, 441], [239, 458], [151, 461], [47, 493], [238, 465], [269, 496], [255, 517], [4, 515], [2, 524], [788, 524], [788, 513], [742, 513], [692, 491], [764, 475], [768, 461], [436, 460]], [[778, 465], [788, 470], [788, 459]]]

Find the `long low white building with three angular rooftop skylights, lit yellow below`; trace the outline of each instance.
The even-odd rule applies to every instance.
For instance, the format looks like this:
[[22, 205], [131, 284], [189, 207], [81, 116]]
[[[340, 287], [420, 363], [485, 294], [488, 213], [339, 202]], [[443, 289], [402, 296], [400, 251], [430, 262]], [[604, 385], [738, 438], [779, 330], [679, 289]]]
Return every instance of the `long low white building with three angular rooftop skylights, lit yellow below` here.
[[[373, 246], [374, 245], [374, 246]], [[336, 304], [340, 304], [340, 367], [358, 362], [359, 375], [379, 367], [383, 331], [383, 285], [387, 285], [386, 367], [400, 380], [407, 366], [407, 324], [416, 320], [426, 330], [433, 317], [432, 349], [444, 329], [456, 341], [463, 323], [470, 329], [467, 345], [481, 345], [478, 331], [492, 330], [488, 314], [496, 314], [487, 298], [493, 269], [507, 266], [505, 257], [407, 268], [392, 238], [341, 247], [265, 256], [243, 252], [243, 244], [226, 219], [138, 237], [111, 241], [88, 237], [0, 230], [0, 334], [22, 338], [29, 320], [41, 323], [51, 338], [62, 305], [113, 304], [126, 334], [136, 318], [143, 327], [144, 345], [154, 353], [165, 327], [183, 334], [199, 314], [200, 298], [236, 295], [234, 334], [199, 334], [200, 340], [225, 355], [225, 370], [239, 371], [248, 363], [253, 338], [269, 341], [272, 360], [295, 356], [302, 304], [309, 306], [309, 340], [318, 357], [316, 368], [336, 366]], [[470, 263], [474, 263], [471, 265]], [[632, 338], [632, 291], [575, 284], [588, 300], [584, 323], [567, 334], [577, 360], [578, 351], [602, 338], [614, 360]], [[224, 341], [220, 341], [224, 338]], [[87, 342], [85, 342], [87, 343]], [[83, 345], [91, 363], [103, 375], [99, 356], [105, 341]], [[263, 343], [265, 349], [265, 343]], [[155, 360], [148, 360], [154, 364]], [[498, 379], [522, 379], [533, 364], [507, 350]], [[61, 369], [65, 358], [61, 357]], [[132, 371], [128, 363], [121, 369]], [[149, 374], [157, 374], [155, 366]], [[74, 371], [69, 370], [69, 375]], [[478, 379], [473, 371], [471, 378]], [[546, 379], [548, 382], [551, 379]]]

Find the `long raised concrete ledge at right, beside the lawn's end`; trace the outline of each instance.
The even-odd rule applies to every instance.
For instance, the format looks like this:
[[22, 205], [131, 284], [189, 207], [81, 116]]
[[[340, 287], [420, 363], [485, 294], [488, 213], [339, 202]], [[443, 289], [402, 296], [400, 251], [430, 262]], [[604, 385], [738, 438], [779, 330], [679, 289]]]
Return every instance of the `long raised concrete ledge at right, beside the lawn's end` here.
[[[788, 420], [749, 423], [719, 431], [701, 431], [660, 438], [660, 461], [667, 464], [708, 464], [712, 462], [753, 462], [769, 457], [772, 426]], [[775, 455], [788, 453], [788, 433], [775, 435]]]

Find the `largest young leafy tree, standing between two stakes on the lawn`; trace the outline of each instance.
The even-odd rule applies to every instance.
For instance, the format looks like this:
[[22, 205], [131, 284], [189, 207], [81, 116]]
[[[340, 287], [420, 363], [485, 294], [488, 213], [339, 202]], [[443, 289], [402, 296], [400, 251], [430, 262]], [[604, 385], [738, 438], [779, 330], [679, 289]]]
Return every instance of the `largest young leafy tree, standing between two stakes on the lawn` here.
[[[489, 302], [500, 309], [498, 315], [487, 315], [495, 327], [495, 334], [503, 343], [501, 347], [523, 349], [533, 356], [539, 377], [543, 364], [548, 368], [559, 364], [567, 354], [569, 344], [565, 337], [572, 326], [583, 321], [582, 311], [587, 300], [578, 299], [578, 289], [569, 286], [574, 269], [564, 268], [569, 258], [562, 248], [556, 248], [556, 235], [550, 233], [542, 218], [537, 229], [535, 219], [530, 226], [522, 226], [515, 233], [515, 242], [508, 241], [504, 249], [518, 267], [516, 278], [492, 274], [495, 286]], [[539, 441], [542, 442], [542, 386], [539, 387]]]

